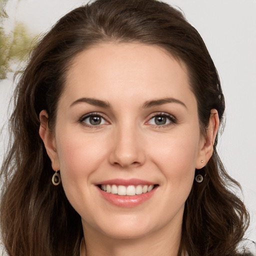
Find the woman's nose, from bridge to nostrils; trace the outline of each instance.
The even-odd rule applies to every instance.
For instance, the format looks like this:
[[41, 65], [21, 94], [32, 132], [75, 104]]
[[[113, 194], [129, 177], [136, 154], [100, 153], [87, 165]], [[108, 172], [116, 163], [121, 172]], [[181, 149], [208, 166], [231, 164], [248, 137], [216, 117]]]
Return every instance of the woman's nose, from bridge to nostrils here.
[[134, 127], [117, 128], [112, 137], [109, 162], [123, 168], [136, 167], [145, 162], [142, 132]]

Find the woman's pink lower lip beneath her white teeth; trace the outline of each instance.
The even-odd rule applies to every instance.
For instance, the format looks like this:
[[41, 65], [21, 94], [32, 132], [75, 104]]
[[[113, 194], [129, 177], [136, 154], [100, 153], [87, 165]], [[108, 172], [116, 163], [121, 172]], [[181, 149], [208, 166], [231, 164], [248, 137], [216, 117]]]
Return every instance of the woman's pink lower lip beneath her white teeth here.
[[112, 194], [108, 193], [106, 191], [101, 190], [99, 187], [97, 187], [101, 195], [104, 199], [106, 199], [108, 202], [119, 206], [119, 207], [134, 207], [137, 206], [144, 201], [148, 200], [155, 192], [157, 187], [154, 187], [151, 191], [142, 193], [142, 194], [135, 194], [135, 195], [118, 195], [118, 194]]

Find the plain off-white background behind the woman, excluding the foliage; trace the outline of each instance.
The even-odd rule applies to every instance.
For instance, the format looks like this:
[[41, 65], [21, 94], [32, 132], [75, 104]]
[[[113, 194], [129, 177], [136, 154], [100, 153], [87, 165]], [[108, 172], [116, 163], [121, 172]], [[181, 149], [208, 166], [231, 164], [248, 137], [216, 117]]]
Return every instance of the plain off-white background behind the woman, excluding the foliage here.
[[[64, 13], [87, 1], [8, 0], [6, 31], [14, 16], [31, 34], [47, 31]], [[247, 232], [256, 240], [256, 0], [166, 0], [179, 6], [199, 31], [219, 72], [226, 101], [226, 126], [219, 152], [228, 173], [240, 182], [251, 214]], [[0, 82], [0, 127], [7, 120], [12, 73]], [[0, 135], [0, 162], [6, 143]], [[6, 144], [5, 144], [6, 145]]]

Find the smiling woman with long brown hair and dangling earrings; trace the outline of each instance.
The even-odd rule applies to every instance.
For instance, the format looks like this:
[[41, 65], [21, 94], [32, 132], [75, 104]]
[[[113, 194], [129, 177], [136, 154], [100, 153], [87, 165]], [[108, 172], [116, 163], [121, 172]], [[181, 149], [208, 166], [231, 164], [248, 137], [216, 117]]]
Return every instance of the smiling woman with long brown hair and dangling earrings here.
[[97, 0], [69, 12], [16, 88], [7, 253], [245, 255], [248, 214], [216, 152], [223, 112], [212, 59], [176, 9]]

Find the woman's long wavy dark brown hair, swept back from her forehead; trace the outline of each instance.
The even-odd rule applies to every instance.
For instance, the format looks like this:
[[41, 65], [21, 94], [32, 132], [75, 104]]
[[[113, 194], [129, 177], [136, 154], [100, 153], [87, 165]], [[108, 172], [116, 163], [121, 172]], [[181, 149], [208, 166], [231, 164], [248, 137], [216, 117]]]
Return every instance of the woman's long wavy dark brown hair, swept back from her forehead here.
[[[56, 104], [72, 59], [100, 42], [158, 45], [188, 70], [196, 97], [201, 132], [210, 110], [223, 121], [224, 97], [214, 63], [202, 38], [182, 13], [156, 0], [96, 0], [63, 16], [31, 52], [14, 95], [11, 142], [1, 168], [2, 241], [9, 255], [78, 255], [80, 216], [61, 185], [53, 186], [50, 159], [39, 137], [39, 112], [46, 109], [54, 129]], [[178, 255], [236, 255], [248, 225], [242, 201], [229, 187], [239, 187], [216, 152], [194, 182], [186, 200]], [[197, 170], [195, 170], [197, 172]]]

